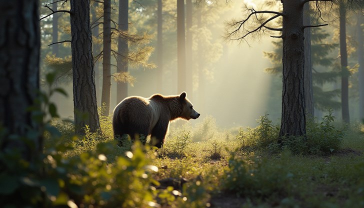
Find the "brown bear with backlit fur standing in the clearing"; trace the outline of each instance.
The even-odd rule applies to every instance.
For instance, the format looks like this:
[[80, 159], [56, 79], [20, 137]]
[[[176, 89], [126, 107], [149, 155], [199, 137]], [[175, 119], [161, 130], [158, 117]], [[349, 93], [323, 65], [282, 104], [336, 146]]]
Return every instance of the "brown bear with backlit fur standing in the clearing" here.
[[151, 135], [151, 144], [160, 148], [169, 121], [176, 118], [196, 119], [199, 115], [186, 98], [185, 92], [170, 96], [153, 94], [148, 98], [130, 96], [114, 108], [112, 128], [115, 138], [124, 134], [129, 134], [131, 139], [138, 135]]

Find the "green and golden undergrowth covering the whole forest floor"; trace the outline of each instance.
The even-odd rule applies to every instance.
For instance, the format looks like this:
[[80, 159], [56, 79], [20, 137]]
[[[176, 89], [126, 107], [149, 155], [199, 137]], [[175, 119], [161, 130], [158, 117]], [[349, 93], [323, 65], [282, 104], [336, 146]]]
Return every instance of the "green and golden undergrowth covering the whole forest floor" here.
[[45, 145], [35, 161], [0, 152], [2, 207], [364, 206], [363, 124], [340, 124], [330, 110], [307, 119], [305, 136], [280, 143], [267, 114], [240, 129], [218, 128], [211, 116], [178, 121], [157, 149], [114, 139], [101, 113], [99, 131], [85, 126], [84, 136], [74, 135], [73, 123], [47, 104], [53, 118], [42, 123]]

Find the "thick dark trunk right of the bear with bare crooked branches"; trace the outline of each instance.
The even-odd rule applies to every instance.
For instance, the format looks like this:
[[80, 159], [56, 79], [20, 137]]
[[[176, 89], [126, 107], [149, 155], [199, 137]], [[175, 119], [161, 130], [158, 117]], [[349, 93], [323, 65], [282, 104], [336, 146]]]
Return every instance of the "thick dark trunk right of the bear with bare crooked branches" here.
[[[244, 40], [257, 32], [281, 31], [282, 38], [282, 112], [279, 136], [302, 136], [305, 126], [304, 94], [304, 34], [303, 6], [313, 0], [281, 0], [282, 12], [247, 8], [247, 16], [240, 21], [229, 23], [227, 38]], [[317, 5], [317, 4], [316, 4]], [[319, 7], [316, 7], [319, 9]], [[270, 14], [269, 17], [266, 17]], [[277, 27], [272, 20], [281, 17], [282, 27]], [[251, 25], [247, 22], [253, 21]], [[273, 35], [272, 35], [273, 36]], [[280, 140], [281, 141], [281, 140]]]

